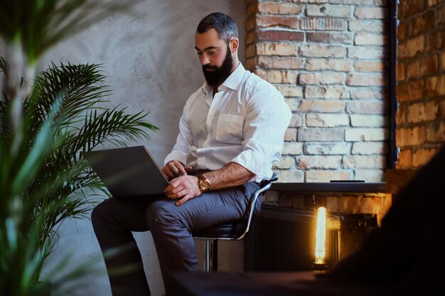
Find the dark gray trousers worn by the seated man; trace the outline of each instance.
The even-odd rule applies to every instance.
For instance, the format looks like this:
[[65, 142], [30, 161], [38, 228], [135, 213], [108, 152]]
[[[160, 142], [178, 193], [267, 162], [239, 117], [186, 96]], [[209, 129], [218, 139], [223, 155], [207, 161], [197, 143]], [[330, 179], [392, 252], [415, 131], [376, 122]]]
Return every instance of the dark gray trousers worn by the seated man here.
[[[107, 266], [113, 296], [150, 295], [132, 231], [151, 231], [168, 295], [172, 270], [198, 270], [192, 231], [247, 216], [256, 182], [210, 191], [176, 206], [165, 196], [112, 197], [92, 211], [92, 225]], [[261, 199], [257, 201], [257, 211]], [[117, 249], [117, 255], [109, 251]], [[119, 251], [120, 250], [120, 251]]]

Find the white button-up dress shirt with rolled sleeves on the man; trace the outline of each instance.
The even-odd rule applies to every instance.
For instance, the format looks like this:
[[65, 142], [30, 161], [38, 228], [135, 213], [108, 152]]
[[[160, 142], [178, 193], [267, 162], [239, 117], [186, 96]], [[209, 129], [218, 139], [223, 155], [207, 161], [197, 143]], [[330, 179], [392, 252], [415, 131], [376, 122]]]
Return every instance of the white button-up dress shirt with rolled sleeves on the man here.
[[269, 180], [290, 120], [282, 94], [240, 63], [215, 97], [205, 82], [188, 98], [164, 164], [178, 160], [193, 170], [218, 170], [235, 162], [256, 175], [252, 180]]

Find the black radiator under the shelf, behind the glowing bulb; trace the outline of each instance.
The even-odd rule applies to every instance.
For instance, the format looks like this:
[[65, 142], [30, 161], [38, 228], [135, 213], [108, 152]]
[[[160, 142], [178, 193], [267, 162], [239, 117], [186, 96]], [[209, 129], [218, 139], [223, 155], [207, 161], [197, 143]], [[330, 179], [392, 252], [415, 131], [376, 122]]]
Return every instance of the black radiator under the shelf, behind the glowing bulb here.
[[[326, 264], [335, 265], [339, 258], [339, 229], [336, 216], [328, 215], [326, 231]], [[334, 223], [333, 223], [334, 221]], [[329, 230], [335, 229], [335, 230]], [[245, 238], [245, 271], [313, 270], [316, 212], [263, 204]]]

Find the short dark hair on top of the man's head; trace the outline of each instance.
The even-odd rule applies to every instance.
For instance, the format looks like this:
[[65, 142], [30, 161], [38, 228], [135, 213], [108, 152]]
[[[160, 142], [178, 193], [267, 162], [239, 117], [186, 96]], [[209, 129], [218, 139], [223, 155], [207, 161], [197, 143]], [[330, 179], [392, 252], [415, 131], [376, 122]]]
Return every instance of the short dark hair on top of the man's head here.
[[196, 31], [202, 34], [213, 28], [218, 32], [218, 38], [225, 40], [227, 44], [233, 37], [238, 38], [237, 24], [225, 13], [214, 12], [205, 16], [199, 22]]

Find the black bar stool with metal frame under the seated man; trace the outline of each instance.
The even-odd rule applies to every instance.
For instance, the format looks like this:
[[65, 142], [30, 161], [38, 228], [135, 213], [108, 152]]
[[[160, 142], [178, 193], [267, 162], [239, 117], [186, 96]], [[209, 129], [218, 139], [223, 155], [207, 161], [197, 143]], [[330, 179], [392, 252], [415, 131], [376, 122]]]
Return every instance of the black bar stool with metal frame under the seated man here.
[[218, 270], [218, 240], [222, 241], [240, 241], [245, 238], [252, 225], [252, 218], [254, 216], [255, 204], [259, 194], [264, 194], [266, 190], [269, 190], [272, 182], [277, 181], [278, 176], [274, 173], [270, 180], [263, 180], [261, 182], [261, 188], [254, 192], [253, 198], [250, 200], [249, 212], [247, 219], [241, 221], [227, 222], [218, 224], [208, 229], [200, 231], [194, 231], [192, 233], [198, 242], [195, 246], [198, 246], [201, 240], [205, 241], [204, 245], [204, 271], [210, 272], [211, 270]]

